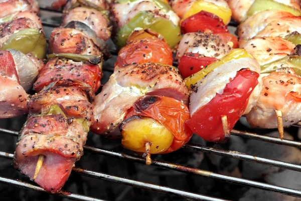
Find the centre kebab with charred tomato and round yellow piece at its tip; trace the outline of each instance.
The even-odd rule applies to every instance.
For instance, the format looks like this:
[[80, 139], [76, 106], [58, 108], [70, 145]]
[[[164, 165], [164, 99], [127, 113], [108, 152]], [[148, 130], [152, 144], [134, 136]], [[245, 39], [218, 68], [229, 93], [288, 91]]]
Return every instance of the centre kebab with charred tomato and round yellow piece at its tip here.
[[[137, 2], [114, 3], [112, 13], [119, 19], [121, 14], [117, 11], [121, 11], [121, 7], [128, 9], [128, 5], [131, 5], [135, 12], [132, 16], [137, 13], [137, 16], [147, 16], [152, 11], [141, 12], [135, 8], [163, 4], [160, 1]], [[123, 19], [118, 24], [121, 27], [126, 20], [128, 24], [134, 24], [137, 23], [133, 21], [135, 19]], [[154, 22], [154, 19], [148, 19]], [[167, 20], [161, 16], [158, 22], [167, 23]], [[169, 30], [162, 26], [154, 29], [157, 25], [153, 25], [141, 25], [132, 30], [128, 38], [122, 38], [126, 46], [118, 53], [114, 73], [96, 96], [93, 110], [96, 123], [91, 127], [94, 133], [108, 138], [122, 137], [122, 146], [144, 153], [146, 164], [151, 163], [150, 154], [176, 151], [192, 136], [191, 130], [185, 125], [190, 118], [188, 89], [177, 69], [171, 66], [171, 43], [164, 37]], [[118, 33], [122, 29], [124, 26]], [[117, 46], [118, 41], [120, 38], [117, 34]], [[121, 43], [119, 45], [122, 46]]]

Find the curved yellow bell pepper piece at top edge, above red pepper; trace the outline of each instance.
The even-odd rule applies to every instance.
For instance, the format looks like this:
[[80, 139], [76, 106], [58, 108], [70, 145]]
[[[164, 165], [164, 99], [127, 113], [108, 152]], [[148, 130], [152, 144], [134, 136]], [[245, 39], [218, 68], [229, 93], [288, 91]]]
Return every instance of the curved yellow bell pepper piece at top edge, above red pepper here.
[[231, 20], [231, 16], [232, 16], [232, 11], [229, 8], [225, 8], [225, 7], [220, 7], [217, 6], [215, 4], [209, 3], [209, 2], [205, 2], [203, 0], [198, 0], [195, 3], [193, 3], [193, 5], [191, 6], [191, 8], [185, 13], [183, 19], [181, 20], [180, 24], [187, 18], [189, 18], [190, 16], [193, 16], [201, 11], [207, 11], [209, 13], [215, 14], [216, 16], [218, 16], [219, 18], [221, 18], [223, 20], [223, 23], [225, 25], [227, 25], [230, 20]]

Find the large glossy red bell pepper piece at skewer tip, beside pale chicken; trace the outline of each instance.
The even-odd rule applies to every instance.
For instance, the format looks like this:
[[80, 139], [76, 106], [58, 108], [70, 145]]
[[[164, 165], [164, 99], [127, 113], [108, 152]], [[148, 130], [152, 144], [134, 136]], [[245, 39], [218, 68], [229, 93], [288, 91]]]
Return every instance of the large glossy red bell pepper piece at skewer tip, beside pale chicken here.
[[227, 117], [228, 129], [232, 130], [247, 107], [249, 96], [258, 83], [258, 77], [257, 72], [245, 68], [237, 71], [236, 76], [225, 86], [223, 93], [216, 93], [206, 106], [192, 115], [186, 122], [187, 125], [206, 141], [226, 141], [229, 136], [225, 136], [221, 118]]

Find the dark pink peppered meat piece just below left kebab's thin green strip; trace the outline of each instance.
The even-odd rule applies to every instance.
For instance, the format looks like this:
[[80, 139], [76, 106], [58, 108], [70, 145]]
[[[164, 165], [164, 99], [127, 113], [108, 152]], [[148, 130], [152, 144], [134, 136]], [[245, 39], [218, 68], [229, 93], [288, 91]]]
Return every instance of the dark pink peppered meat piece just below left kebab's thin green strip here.
[[97, 64], [75, 62], [70, 59], [56, 57], [48, 61], [42, 69], [34, 84], [34, 89], [40, 91], [51, 82], [76, 79], [91, 86], [95, 93], [100, 87], [101, 76], [102, 72]]

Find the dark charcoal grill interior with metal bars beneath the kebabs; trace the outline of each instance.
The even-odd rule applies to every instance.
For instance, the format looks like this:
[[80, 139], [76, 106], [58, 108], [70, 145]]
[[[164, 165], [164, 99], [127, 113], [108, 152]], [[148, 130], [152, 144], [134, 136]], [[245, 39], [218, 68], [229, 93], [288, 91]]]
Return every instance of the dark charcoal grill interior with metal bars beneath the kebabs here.
[[[53, 27], [59, 26], [61, 16], [61, 13], [46, 7], [50, 4], [46, 1], [40, 3], [41, 19], [48, 38]], [[231, 29], [233, 31], [235, 27]], [[103, 66], [102, 84], [108, 80], [113, 71], [116, 58], [116, 50], [113, 46], [111, 52], [113, 58], [106, 61]], [[259, 146], [263, 150], [265, 146], [268, 147], [272, 143], [275, 145], [273, 147], [275, 149], [279, 147], [280, 151], [282, 149], [280, 147], [284, 146], [295, 147], [298, 151], [301, 146], [297, 136], [299, 125], [286, 130], [293, 139], [280, 140], [278, 137], [264, 135], [270, 130], [247, 128], [242, 120], [236, 125], [237, 130], [231, 132], [232, 137], [228, 143], [223, 145], [207, 143], [205, 146], [206, 143], [201, 138], [194, 136], [190, 143], [175, 153], [153, 155], [151, 166], [146, 166], [145, 159], [141, 156], [123, 149], [119, 141], [110, 141], [91, 133], [84, 147], [85, 154], [76, 163], [64, 187], [68, 191], [49, 195], [37, 192], [45, 192], [45, 190], [22, 176], [12, 166], [11, 159], [14, 156], [18, 131], [25, 120], [24, 116], [0, 121], [0, 156], [3, 158], [0, 160], [0, 182], [3, 183], [0, 184], [1, 200], [243, 200], [241, 199], [243, 194], [253, 188], [265, 190], [258, 191], [261, 195], [269, 194], [268, 191], [277, 192], [267, 196], [274, 196], [275, 199], [267, 200], [298, 199], [279, 193], [301, 197], [300, 190], [293, 189], [291, 186], [280, 186], [280, 178], [278, 179], [280, 184], [274, 185], [269, 184], [273, 182], [265, 182], [264, 172], [255, 180], [245, 179], [243, 175], [249, 167], [252, 170], [252, 165], [248, 166], [248, 164], [254, 163], [276, 167], [277, 170], [273, 169], [272, 172], [281, 173], [284, 169], [301, 171], [299, 165], [301, 160], [282, 162], [261, 155], [244, 153], [247, 152], [246, 144], [254, 140], [258, 142], [258, 146], [263, 145]], [[245, 130], [253, 133], [243, 132]], [[289, 150], [288, 152], [291, 153]], [[271, 155], [270, 158], [274, 156]], [[289, 181], [292, 178], [286, 179]], [[258, 197], [254, 197], [254, 200], [256, 198]]]

